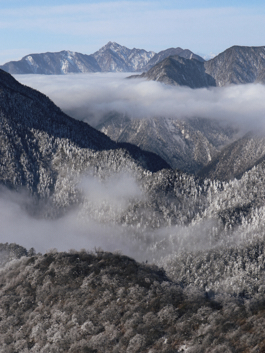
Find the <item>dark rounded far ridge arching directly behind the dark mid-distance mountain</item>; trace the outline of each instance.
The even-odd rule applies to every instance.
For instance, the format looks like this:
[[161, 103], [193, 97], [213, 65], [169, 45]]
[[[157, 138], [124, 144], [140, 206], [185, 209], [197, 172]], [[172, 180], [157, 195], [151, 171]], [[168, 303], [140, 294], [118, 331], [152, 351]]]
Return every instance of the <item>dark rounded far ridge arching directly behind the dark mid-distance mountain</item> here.
[[151, 67], [155, 66], [158, 62], [168, 58], [172, 55], [179, 55], [181, 58], [185, 59], [196, 59], [198, 61], [204, 62], [205, 60], [201, 58], [201, 56], [196, 55], [188, 49], [178, 48], [169, 48], [166, 50], [162, 50], [161, 52], [155, 54], [152, 59], [148, 61], [148, 63], [142, 68], [143, 71], [150, 70]]

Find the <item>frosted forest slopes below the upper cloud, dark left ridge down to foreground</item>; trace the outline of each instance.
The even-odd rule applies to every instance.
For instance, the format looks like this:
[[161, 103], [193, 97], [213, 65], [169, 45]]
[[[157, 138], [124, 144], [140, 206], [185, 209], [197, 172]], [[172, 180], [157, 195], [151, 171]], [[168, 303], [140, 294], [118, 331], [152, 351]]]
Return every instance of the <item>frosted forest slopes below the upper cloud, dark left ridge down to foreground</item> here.
[[[233, 165], [230, 149], [195, 176], [0, 71], [0, 205], [16, 206], [1, 219], [0, 352], [262, 352], [263, 146], [242, 138]], [[71, 240], [73, 217], [71, 249], [62, 234], [44, 253], [47, 225]]]

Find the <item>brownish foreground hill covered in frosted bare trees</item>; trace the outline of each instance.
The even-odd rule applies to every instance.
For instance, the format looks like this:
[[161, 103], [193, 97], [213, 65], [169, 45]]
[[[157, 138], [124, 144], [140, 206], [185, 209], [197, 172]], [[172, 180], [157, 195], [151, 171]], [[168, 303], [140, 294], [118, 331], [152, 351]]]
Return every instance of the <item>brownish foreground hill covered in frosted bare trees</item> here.
[[212, 299], [100, 249], [27, 255], [0, 269], [1, 353], [264, 352], [264, 295]]

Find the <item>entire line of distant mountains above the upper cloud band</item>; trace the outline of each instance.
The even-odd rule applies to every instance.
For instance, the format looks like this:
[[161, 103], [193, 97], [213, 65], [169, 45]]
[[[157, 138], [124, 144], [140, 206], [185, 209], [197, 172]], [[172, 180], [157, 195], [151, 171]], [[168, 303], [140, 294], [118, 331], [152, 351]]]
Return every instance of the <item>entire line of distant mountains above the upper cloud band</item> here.
[[131, 77], [191, 88], [223, 86], [227, 83], [265, 83], [265, 46], [233, 46], [205, 61], [180, 47], [155, 53], [108, 42], [90, 55], [66, 50], [30, 54], [19, 61], [7, 62], [0, 68], [11, 74], [144, 71]]

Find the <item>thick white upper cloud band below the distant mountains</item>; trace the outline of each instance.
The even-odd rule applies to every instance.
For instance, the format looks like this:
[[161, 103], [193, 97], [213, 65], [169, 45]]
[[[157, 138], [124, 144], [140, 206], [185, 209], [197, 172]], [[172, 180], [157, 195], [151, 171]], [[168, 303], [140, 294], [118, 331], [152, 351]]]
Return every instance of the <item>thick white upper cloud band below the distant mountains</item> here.
[[110, 112], [131, 118], [168, 116], [218, 119], [236, 128], [264, 132], [265, 85], [228, 85], [191, 89], [144, 79], [130, 73], [15, 75], [19, 82], [48, 95], [70, 116], [96, 126]]

